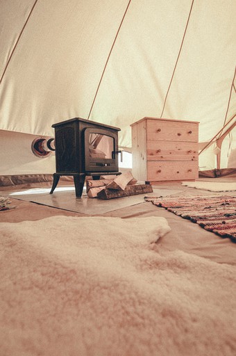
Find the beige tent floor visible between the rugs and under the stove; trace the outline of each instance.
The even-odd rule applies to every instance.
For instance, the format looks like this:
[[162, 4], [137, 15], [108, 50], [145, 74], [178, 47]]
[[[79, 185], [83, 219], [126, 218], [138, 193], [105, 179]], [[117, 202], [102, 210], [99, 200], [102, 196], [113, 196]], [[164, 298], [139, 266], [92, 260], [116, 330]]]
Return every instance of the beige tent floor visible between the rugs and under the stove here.
[[[235, 177], [201, 179], [201, 181], [235, 181]], [[49, 216], [110, 216], [130, 218], [133, 216], [162, 216], [167, 219], [171, 232], [158, 241], [158, 252], [183, 250], [218, 263], [236, 265], [236, 244], [229, 238], [221, 238], [199, 225], [176, 216], [151, 202], [145, 195], [98, 200], [83, 195], [76, 199], [73, 184], [58, 184], [58, 190], [49, 195], [51, 183], [31, 186], [0, 187], [0, 195], [10, 197], [17, 209], [0, 212], [1, 223], [19, 223], [23, 220], [40, 220]], [[149, 195], [235, 195], [234, 192], [215, 193], [182, 186], [181, 181], [160, 182], [153, 186]]]

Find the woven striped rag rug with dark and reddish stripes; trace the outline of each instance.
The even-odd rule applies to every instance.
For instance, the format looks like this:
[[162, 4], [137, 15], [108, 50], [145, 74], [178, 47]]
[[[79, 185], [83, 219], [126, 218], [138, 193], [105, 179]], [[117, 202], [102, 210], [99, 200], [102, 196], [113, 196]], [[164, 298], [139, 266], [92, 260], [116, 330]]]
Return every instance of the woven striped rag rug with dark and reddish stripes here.
[[145, 200], [236, 243], [236, 197], [145, 197]]

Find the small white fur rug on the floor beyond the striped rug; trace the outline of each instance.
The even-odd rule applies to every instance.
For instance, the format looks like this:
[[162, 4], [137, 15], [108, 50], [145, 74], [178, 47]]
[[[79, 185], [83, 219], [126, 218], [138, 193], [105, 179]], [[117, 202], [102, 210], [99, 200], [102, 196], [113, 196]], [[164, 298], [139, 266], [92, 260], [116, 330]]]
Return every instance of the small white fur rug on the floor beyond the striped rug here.
[[225, 181], [183, 181], [182, 186], [211, 192], [236, 191], [236, 183], [227, 183]]

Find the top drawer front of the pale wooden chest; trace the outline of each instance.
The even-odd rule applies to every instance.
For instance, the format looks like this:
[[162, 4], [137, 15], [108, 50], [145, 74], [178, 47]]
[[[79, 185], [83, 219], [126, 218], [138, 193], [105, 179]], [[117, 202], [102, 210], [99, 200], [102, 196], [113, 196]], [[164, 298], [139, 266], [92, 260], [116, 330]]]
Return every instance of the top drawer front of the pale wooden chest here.
[[146, 135], [147, 140], [198, 142], [199, 124], [146, 120]]

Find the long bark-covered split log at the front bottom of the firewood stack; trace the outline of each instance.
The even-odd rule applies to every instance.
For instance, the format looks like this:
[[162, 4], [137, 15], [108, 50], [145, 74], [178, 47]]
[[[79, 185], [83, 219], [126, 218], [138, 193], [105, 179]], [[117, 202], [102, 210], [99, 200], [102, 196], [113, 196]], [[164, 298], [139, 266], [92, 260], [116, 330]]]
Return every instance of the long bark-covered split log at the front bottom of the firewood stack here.
[[137, 195], [144, 193], [153, 193], [153, 187], [150, 184], [135, 184], [126, 186], [124, 191], [118, 191], [117, 189], [109, 189], [108, 186], [103, 188], [99, 193], [97, 193], [97, 197], [99, 199], [113, 199], [115, 197], [128, 197], [129, 195]]

